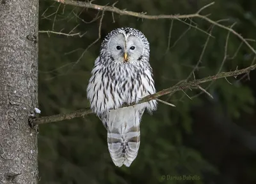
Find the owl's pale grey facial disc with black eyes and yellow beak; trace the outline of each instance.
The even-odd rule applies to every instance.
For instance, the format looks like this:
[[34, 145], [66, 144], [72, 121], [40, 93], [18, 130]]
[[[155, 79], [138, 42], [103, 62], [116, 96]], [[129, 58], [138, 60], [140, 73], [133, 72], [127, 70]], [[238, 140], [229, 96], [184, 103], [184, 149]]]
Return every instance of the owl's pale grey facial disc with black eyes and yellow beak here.
[[125, 38], [124, 34], [117, 34], [109, 41], [109, 53], [117, 62], [137, 61], [143, 52], [140, 39], [134, 36]]

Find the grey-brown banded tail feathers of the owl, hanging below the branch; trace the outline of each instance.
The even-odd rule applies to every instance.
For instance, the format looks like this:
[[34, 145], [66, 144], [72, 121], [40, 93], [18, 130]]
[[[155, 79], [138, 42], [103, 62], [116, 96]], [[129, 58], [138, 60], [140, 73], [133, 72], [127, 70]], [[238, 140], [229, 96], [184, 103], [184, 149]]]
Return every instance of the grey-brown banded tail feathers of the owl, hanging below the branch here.
[[[125, 127], [123, 130], [125, 130]], [[121, 167], [124, 164], [129, 167], [138, 155], [140, 125], [123, 130], [113, 129], [108, 131], [108, 150], [116, 166]]]

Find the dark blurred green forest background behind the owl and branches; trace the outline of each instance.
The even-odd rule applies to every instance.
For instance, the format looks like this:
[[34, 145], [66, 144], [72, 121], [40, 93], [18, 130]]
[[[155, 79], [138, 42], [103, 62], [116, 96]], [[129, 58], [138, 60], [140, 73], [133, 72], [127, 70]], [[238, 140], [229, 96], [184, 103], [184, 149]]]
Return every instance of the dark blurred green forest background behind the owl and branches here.
[[[115, 1], [97, 0], [111, 5]], [[207, 0], [130, 0], [116, 7], [148, 15], [189, 14], [211, 3]], [[244, 38], [256, 39], [256, 1], [218, 0], [202, 14], [234, 29]], [[200, 18], [147, 20], [102, 11], [40, 1], [39, 103], [42, 116], [89, 106], [86, 86], [102, 39], [117, 27], [134, 27], [150, 42], [150, 64], [157, 90], [193, 80], [211, 24]], [[98, 17], [97, 17], [98, 16]], [[95, 18], [96, 17], [96, 18]], [[95, 19], [94, 21], [92, 21]], [[193, 21], [191, 23], [191, 21]], [[184, 24], [186, 22], [187, 24]], [[202, 32], [189, 24], [197, 25]], [[170, 36], [170, 27], [172, 27]], [[47, 34], [56, 31], [79, 36]], [[195, 78], [232, 71], [254, 62], [252, 51], [228, 31], [214, 26]], [[255, 48], [255, 42], [249, 40]], [[86, 52], [84, 52], [84, 50]], [[82, 55], [82, 53], [84, 53]], [[80, 58], [80, 59], [79, 59]], [[232, 83], [232, 84], [230, 84]], [[256, 73], [205, 83], [214, 96], [192, 88], [161, 99], [141, 122], [141, 145], [131, 167], [115, 167], [107, 145], [107, 132], [95, 115], [40, 125], [39, 171], [41, 184], [79, 183], [256, 183]], [[209, 86], [210, 85], [210, 86]], [[191, 97], [189, 97], [185, 94]], [[197, 96], [200, 94], [199, 96]], [[183, 176], [197, 180], [184, 180]], [[162, 180], [165, 176], [166, 180]], [[175, 178], [176, 177], [176, 178]], [[182, 179], [180, 179], [182, 177]], [[169, 180], [167, 180], [169, 179]]]

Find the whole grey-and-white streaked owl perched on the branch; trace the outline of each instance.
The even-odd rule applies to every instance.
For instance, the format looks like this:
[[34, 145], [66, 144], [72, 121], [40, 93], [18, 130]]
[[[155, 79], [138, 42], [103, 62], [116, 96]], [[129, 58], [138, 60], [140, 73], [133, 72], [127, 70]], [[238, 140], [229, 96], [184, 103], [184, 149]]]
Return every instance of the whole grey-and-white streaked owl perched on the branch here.
[[156, 100], [129, 106], [156, 92], [149, 52], [142, 32], [114, 29], [102, 41], [87, 87], [90, 108], [108, 131], [108, 150], [118, 167], [131, 166], [137, 157], [141, 116], [157, 108]]

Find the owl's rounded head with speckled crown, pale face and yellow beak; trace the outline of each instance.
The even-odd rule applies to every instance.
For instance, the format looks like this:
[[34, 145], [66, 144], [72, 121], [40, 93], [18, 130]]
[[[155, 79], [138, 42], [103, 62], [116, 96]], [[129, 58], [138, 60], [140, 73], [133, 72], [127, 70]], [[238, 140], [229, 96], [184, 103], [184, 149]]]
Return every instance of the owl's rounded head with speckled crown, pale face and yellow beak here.
[[109, 32], [100, 48], [100, 54], [108, 55], [113, 62], [133, 63], [148, 61], [149, 43], [137, 29], [122, 27]]

